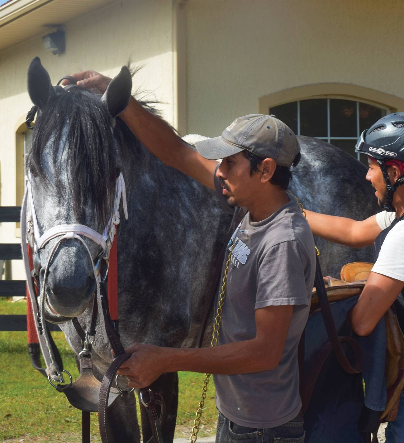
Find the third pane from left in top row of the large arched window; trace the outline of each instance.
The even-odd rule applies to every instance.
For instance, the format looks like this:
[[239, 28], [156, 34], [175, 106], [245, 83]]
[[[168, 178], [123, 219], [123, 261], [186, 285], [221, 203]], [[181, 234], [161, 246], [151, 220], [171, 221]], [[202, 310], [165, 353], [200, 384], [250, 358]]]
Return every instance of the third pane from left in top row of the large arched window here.
[[331, 137], [357, 137], [356, 101], [330, 100]]

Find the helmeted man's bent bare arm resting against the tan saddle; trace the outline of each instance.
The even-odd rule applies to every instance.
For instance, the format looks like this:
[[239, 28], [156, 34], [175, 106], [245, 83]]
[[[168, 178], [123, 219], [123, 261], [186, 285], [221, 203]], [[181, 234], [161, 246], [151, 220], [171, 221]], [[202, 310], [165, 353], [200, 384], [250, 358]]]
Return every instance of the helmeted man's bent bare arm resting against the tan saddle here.
[[355, 334], [369, 335], [403, 289], [404, 282], [370, 272], [358, 303], [350, 310]]

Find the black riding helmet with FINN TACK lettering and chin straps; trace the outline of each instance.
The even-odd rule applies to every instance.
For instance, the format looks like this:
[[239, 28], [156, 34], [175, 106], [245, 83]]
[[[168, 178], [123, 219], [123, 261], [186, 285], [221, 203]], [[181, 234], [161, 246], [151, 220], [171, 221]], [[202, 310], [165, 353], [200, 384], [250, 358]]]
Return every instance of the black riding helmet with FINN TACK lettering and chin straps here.
[[355, 148], [355, 152], [369, 155], [377, 161], [386, 182], [387, 197], [384, 209], [389, 212], [394, 211], [393, 194], [404, 183], [404, 174], [400, 175], [392, 185], [385, 162], [389, 160], [404, 162], [404, 112], [381, 117], [373, 126], [362, 132]]

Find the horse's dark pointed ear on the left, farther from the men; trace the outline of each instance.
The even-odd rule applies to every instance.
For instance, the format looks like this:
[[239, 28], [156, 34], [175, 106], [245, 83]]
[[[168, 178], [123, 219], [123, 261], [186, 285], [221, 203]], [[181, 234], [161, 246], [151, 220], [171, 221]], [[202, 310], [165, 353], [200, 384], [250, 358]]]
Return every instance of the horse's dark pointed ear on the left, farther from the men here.
[[41, 65], [39, 57], [35, 57], [28, 68], [28, 93], [32, 103], [39, 109], [43, 108], [49, 97], [55, 93], [48, 71]]

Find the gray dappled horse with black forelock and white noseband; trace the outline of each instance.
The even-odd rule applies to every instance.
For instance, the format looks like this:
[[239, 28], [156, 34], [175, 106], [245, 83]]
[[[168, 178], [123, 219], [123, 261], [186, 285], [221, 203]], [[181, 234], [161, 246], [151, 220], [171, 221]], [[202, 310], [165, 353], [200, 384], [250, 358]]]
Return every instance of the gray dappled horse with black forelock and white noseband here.
[[[129, 218], [121, 217], [118, 234], [119, 332], [123, 346], [193, 346], [203, 307], [208, 303], [212, 263], [231, 219], [215, 193], [147, 151], [115, 117], [131, 94], [124, 67], [103, 97], [79, 88], [55, 89], [39, 59], [28, 72], [28, 89], [38, 118], [29, 169], [41, 233], [60, 224], [80, 223], [102, 233], [111, 214], [115, 179], [126, 181]], [[302, 159], [291, 190], [308, 209], [366, 218], [377, 211], [376, 199], [358, 161], [309, 137], [300, 137]], [[332, 227], [330, 227], [332, 229]], [[51, 240], [40, 251], [43, 269]], [[99, 246], [84, 238], [92, 259]], [[348, 261], [371, 260], [367, 250], [318, 241], [324, 275], [338, 276]], [[85, 246], [64, 240], [50, 261], [46, 318], [59, 323], [77, 355], [80, 338], [68, 318], [90, 323], [95, 282]], [[57, 312], [57, 314], [55, 314]], [[99, 328], [98, 324], [98, 328]], [[210, 327], [208, 327], [208, 332]], [[94, 369], [102, 377], [112, 360], [110, 345], [97, 333], [92, 345]], [[177, 373], [163, 374], [153, 389], [169, 411], [162, 432], [172, 441], [177, 415]], [[118, 398], [109, 420], [116, 441], [139, 441], [135, 396]], [[142, 411], [142, 418], [146, 416]]]

